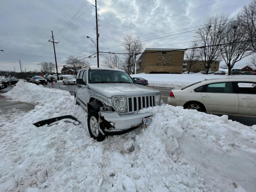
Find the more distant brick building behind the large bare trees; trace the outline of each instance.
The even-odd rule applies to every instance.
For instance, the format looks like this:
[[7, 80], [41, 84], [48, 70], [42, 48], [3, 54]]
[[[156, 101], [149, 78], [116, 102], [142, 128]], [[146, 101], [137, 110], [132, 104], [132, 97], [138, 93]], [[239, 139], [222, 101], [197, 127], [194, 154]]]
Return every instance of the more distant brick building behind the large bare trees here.
[[[206, 64], [207, 66], [208, 64]], [[220, 60], [213, 61], [211, 64], [211, 68], [209, 70], [211, 71], [218, 71], [220, 66]], [[189, 70], [189, 60], [184, 59], [183, 61], [183, 71]], [[205, 65], [203, 60], [198, 60], [195, 64], [191, 66], [190, 69], [191, 72], [198, 73], [200, 71], [205, 71]]]

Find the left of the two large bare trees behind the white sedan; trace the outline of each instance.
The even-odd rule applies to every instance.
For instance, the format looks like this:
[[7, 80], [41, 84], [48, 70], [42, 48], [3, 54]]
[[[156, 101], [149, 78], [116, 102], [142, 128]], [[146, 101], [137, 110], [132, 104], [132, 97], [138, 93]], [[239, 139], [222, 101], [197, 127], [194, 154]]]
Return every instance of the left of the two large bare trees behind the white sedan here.
[[204, 27], [198, 28], [195, 32], [195, 41], [201, 47], [198, 51], [203, 60], [206, 74], [208, 74], [212, 62], [221, 57], [219, 44], [225, 35], [227, 19], [228, 16], [224, 14], [208, 17], [203, 24]]

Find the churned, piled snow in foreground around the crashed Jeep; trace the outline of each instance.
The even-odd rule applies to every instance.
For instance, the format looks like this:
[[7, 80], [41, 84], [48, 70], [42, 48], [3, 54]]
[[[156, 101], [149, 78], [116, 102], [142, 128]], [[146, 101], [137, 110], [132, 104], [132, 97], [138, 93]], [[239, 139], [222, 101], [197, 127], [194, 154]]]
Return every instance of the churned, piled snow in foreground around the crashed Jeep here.
[[[36, 106], [0, 110], [0, 191], [256, 191], [256, 125], [165, 105], [96, 142], [69, 92], [19, 81], [4, 96]], [[81, 124], [32, 125], [60, 115]]]

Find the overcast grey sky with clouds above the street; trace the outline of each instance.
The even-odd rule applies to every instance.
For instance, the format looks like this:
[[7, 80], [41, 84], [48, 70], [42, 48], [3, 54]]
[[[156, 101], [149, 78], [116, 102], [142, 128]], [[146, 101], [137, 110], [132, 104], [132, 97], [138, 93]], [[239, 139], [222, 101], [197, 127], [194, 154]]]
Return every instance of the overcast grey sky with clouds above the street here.
[[[188, 48], [194, 33], [183, 29], [199, 26], [208, 16], [221, 12], [236, 17], [248, 3], [250, 0], [99, 0], [99, 49], [118, 46], [128, 33], [143, 40], [172, 35], [144, 41], [144, 48]], [[55, 46], [59, 71], [69, 55], [77, 55], [85, 48], [77, 55], [80, 59], [95, 53], [96, 47], [86, 38], [96, 41], [93, 5], [92, 0], [1, 0], [0, 50], [4, 51], [0, 51], [0, 70], [14, 71], [15, 67], [20, 71], [19, 59], [22, 71], [39, 70], [42, 61], [55, 63], [53, 44], [48, 42], [52, 30], [54, 41], [59, 41]], [[186, 33], [173, 35], [180, 32]], [[102, 49], [122, 50], [122, 46]], [[235, 67], [245, 66], [247, 60], [242, 59]], [[96, 57], [88, 61], [97, 66]], [[101, 61], [100, 57], [100, 65]]]

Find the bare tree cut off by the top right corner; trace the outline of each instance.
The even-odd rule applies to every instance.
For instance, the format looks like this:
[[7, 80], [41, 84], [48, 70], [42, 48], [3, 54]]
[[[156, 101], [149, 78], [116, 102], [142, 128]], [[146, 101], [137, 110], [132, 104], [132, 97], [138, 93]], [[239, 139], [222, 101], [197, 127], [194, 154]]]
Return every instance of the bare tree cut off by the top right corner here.
[[245, 30], [246, 38], [251, 42], [254, 52], [256, 52], [256, 0], [252, 0], [249, 5], [245, 5], [239, 14]]

